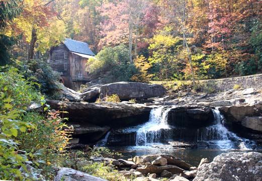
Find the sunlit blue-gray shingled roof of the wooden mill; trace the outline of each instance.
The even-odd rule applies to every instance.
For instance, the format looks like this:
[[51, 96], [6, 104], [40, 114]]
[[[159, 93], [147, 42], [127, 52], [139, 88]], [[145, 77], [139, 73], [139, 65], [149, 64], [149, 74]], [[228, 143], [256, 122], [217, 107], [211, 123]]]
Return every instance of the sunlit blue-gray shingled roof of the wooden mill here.
[[95, 54], [89, 48], [87, 43], [66, 38], [65, 41], [64, 41], [64, 44], [69, 49], [69, 51], [71, 51], [71, 52], [95, 56]]

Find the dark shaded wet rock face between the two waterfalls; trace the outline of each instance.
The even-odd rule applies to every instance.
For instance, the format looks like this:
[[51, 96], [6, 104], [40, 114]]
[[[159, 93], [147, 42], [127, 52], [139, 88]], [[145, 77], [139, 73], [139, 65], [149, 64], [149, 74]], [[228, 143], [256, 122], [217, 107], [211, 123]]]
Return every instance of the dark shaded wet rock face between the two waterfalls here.
[[178, 107], [169, 111], [167, 120], [173, 126], [201, 128], [214, 124], [214, 115], [210, 107]]

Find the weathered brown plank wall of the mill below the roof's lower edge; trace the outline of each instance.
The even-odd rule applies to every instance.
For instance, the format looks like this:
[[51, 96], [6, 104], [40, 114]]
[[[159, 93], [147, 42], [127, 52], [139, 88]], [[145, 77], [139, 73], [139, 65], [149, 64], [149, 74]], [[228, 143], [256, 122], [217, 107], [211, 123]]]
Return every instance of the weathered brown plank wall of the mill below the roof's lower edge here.
[[85, 70], [85, 64], [88, 62], [88, 58], [69, 52], [69, 62], [72, 81], [88, 80], [88, 72]]

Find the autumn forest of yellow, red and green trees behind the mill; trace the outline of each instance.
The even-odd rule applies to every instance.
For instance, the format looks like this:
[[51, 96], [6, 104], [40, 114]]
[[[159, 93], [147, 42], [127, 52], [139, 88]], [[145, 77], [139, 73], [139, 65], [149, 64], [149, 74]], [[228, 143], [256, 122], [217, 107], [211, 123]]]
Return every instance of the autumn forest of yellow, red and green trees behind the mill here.
[[1, 63], [46, 61], [65, 37], [98, 54], [89, 71], [121, 80], [207, 79], [261, 72], [262, 1], [1, 1]]

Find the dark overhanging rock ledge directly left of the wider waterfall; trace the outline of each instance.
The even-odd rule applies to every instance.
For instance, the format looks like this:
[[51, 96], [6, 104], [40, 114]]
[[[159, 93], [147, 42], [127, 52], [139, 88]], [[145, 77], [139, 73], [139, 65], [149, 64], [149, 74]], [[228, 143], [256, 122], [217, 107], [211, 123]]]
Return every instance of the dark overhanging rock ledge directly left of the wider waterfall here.
[[64, 114], [64, 117], [68, 117], [69, 122], [80, 125], [137, 125], [148, 120], [151, 110], [150, 107], [142, 104], [65, 102], [66, 106], [61, 108], [61, 103], [64, 102], [47, 101], [52, 109], [68, 112]]

